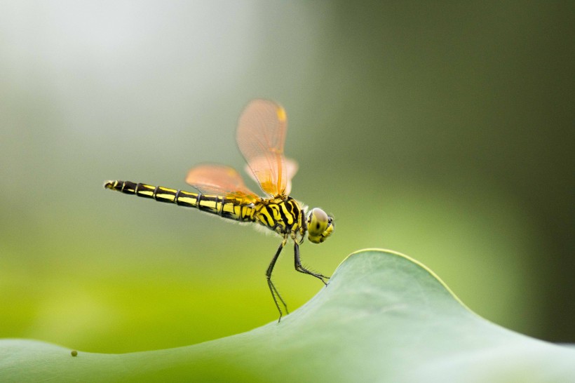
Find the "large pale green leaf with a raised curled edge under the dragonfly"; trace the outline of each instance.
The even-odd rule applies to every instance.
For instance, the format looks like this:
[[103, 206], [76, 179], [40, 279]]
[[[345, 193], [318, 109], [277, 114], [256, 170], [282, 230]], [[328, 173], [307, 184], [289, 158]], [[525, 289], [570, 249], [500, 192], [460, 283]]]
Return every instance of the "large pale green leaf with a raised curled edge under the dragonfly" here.
[[177, 349], [71, 351], [1, 340], [0, 381], [575, 382], [574, 347], [480, 318], [432, 271], [384, 250], [350, 255], [281, 323]]

